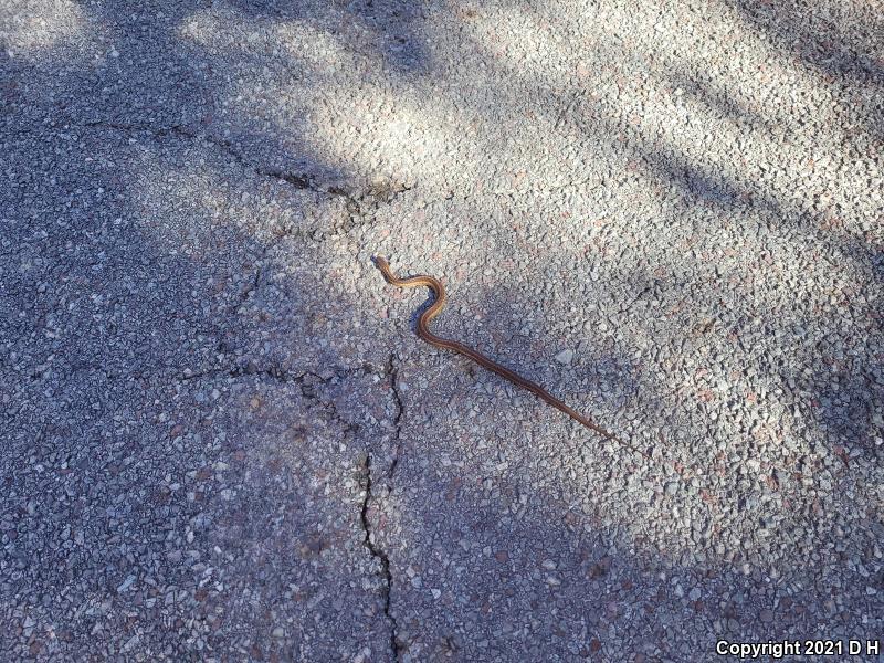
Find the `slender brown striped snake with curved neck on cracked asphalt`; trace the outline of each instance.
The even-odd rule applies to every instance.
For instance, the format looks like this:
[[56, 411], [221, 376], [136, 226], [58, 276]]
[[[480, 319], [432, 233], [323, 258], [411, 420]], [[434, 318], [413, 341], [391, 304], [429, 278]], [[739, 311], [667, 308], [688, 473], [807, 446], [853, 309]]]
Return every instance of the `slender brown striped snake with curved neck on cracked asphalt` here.
[[442, 308], [444, 308], [445, 302], [448, 301], [448, 297], [445, 295], [445, 286], [442, 285], [442, 282], [439, 278], [435, 278], [434, 276], [425, 276], [425, 275], [411, 276], [411, 277], [408, 277], [408, 278], [400, 278], [390, 269], [390, 263], [388, 263], [385, 257], [375, 256], [375, 257], [372, 257], [372, 261], [375, 262], [375, 265], [383, 274], [383, 278], [390, 285], [394, 285], [397, 287], [403, 287], [403, 288], [425, 286], [425, 287], [429, 287], [432, 291], [433, 299], [434, 299], [432, 305], [429, 308], [424, 309], [424, 312], [421, 313], [420, 317], [418, 318], [418, 336], [421, 339], [423, 339], [424, 341], [429, 343], [431, 346], [434, 346], [436, 348], [441, 348], [443, 350], [450, 350], [452, 352], [457, 352], [459, 355], [462, 355], [462, 356], [466, 357], [467, 359], [471, 359], [472, 361], [474, 361], [475, 364], [477, 364], [482, 368], [484, 368], [486, 370], [490, 370], [491, 372], [497, 373], [498, 376], [501, 376], [505, 380], [508, 380], [509, 382], [512, 382], [516, 387], [520, 387], [522, 389], [527, 389], [528, 391], [534, 393], [537, 398], [546, 401], [548, 404], [552, 406], [557, 410], [560, 410], [561, 412], [564, 412], [565, 414], [570, 417], [571, 419], [573, 419], [575, 421], [578, 421], [579, 423], [583, 424], [586, 428], [590, 429], [591, 431], [598, 433], [602, 438], [604, 438], [607, 440], [611, 440], [612, 442], [615, 442], [615, 443], [618, 443], [618, 444], [620, 444], [620, 445], [622, 445], [622, 446], [624, 446], [624, 448], [627, 448], [627, 449], [629, 449], [629, 450], [631, 450], [631, 451], [644, 456], [645, 459], [651, 460], [651, 456], [648, 453], [645, 453], [644, 451], [638, 449], [634, 444], [630, 444], [625, 440], [622, 440], [621, 438], [618, 438], [617, 435], [614, 435], [610, 431], [603, 429], [602, 427], [597, 424], [594, 421], [592, 421], [589, 417], [586, 417], [586, 415], [581, 414], [580, 412], [578, 412], [577, 410], [575, 410], [570, 406], [566, 404], [564, 401], [559, 400], [558, 398], [556, 398], [555, 396], [549, 393], [546, 389], [540, 387], [537, 382], [533, 382], [532, 380], [528, 380], [528, 379], [522, 377], [517, 372], [506, 368], [505, 366], [502, 366], [502, 365], [497, 364], [496, 361], [494, 361], [492, 359], [488, 359], [487, 357], [485, 357], [484, 355], [482, 355], [477, 350], [474, 350], [473, 348], [471, 348], [471, 347], [469, 347], [469, 346], [466, 346], [466, 345], [464, 345], [462, 343], [459, 343], [456, 340], [452, 340], [450, 338], [442, 338], [441, 336], [436, 336], [435, 334], [430, 332], [430, 322], [432, 322], [433, 318], [435, 318], [440, 313], [442, 313]]

